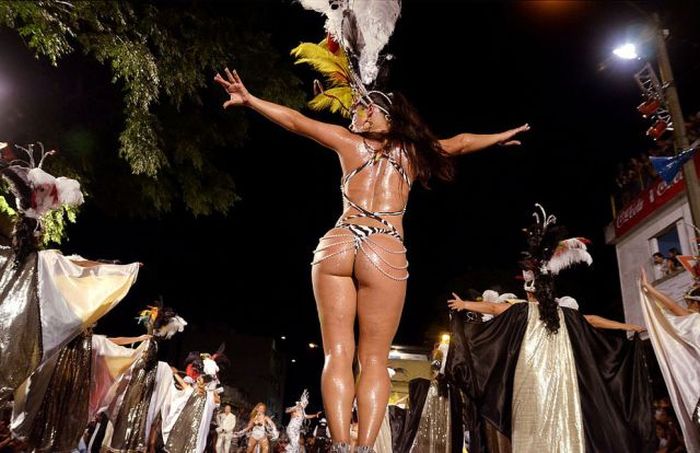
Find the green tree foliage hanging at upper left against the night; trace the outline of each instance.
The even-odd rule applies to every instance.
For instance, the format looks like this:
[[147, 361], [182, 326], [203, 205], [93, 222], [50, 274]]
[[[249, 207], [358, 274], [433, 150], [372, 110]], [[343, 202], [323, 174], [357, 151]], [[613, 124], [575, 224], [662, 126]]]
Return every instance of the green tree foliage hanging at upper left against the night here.
[[[116, 140], [77, 140], [53, 168], [80, 179], [114, 213], [158, 214], [179, 202], [194, 215], [227, 213], [237, 196], [225, 155], [245, 142], [248, 124], [239, 111], [222, 115], [221, 99], [211, 94], [220, 96], [214, 72], [235, 64], [256, 93], [293, 107], [303, 103], [300, 82], [274, 48], [258, 6], [0, 0], [0, 27], [16, 31], [37, 57], [60, 67], [81, 51], [110, 68], [122, 93]], [[62, 137], [64, 144], [71, 140]]]

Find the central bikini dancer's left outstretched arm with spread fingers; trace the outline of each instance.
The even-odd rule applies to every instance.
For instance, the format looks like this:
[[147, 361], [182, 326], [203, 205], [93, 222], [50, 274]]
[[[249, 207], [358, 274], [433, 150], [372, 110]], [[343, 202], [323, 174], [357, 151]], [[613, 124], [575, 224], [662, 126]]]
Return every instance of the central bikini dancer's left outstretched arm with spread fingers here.
[[214, 80], [229, 94], [229, 100], [224, 102], [224, 108], [249, 107], [288, 131], [308, 137], [337, 152], [341, 152], [348, 146], [357, 145], [357, 136], [346, 128], [313, 120], [289, 107], [257, 98], [248, 93], [236, 71], [231, 72], [226, 68], [225, 73], [226, 79], [220, 74], [214, 77]]

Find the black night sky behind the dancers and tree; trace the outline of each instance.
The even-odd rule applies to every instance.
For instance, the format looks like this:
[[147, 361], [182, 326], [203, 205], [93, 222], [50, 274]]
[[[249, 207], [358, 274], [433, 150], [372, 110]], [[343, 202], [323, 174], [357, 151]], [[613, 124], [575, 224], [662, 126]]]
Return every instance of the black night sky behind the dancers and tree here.
[[[187, 2], [177, 3], [185, 8]], [[260, 4], [269, 9], [267, 25], [283, 54], [299, 41], [318, 41], [322, 19], [314, 13], [288, 0]], [[466, 295], [468, 288], [499, 286], [521, 293], [514, 279], [524, 247], [520, 230], [535, 202], [572, 234], [593, 240], [593, 266], [563, 275], [560, 293], [577, 298], [584, 313], [622, 319], [614, 249], [605, 245], [603, 228], [611, 221], [616, 165], [650, 142], [648, 124], [635, 111], [641, 95], [632, 76], [642, 63], [612, 61], [610, 52], [634, 34], [642, 12], [656, 6], [404, 1], [389, 46], [396, 57], [393, 85], [437, 135], [496, 132], [525, 122], [532, 130], [520, 137], [520, 148], [459, 158], [454, 183], [414, 187], [404, 223], [411, 277], [396, 343], [432, 344], [446, 328], [445, 301], [453, 290]], [[672, 29], [669, 52], [687, 115], [700, 110], [694, 84], [700, 5], [663, 2], [661, 13]], [[291, 57], [286, 64], [293, 64]], [[237, 69], [245, 81], [246, 68]], [[310, 94], [313, 74], [297, 71]], [[80, 93], [98, 93], [99, 100], [71, 93], [76, 80]], [[212, 108], [220, 108], [224, 93], [213, 83], [210, 91]], [[34, 59], [15, 33], [0, 30], [0, 136], [12, 133], [2, 118], [1, 105], [9, 102], [28, 110], [39, 103], [49, 116], [88, 127], [105, 109], [121, 109], [108, 69], [79, 53], [53, 68]], [[309, 263], [318, 238], [341, 213], [340, 167], [333, 152], [247, 114], [254, 119], [250, 141], [231, 149], [226, 169], [241, 200], [227, 217], [194, 218], [178, 208], [159, 219], [125, 219], [90, 200], [81, 210], [64, 252], [145, 263], [131, 294], [101, 323], [104, 331], [139, 333], [135, 312], [162, 295], [194, 324], [286, 335], [291, 352], [320, 342]], [[22, 124], [47, 141], [31, 115]], [[102, 152], [117, 152], [115, 137], [105, 135]], [[212, 339], [211, 348], [217, 344]], [[300, 354], [320, 366], [318, 350], [316, 357]]]

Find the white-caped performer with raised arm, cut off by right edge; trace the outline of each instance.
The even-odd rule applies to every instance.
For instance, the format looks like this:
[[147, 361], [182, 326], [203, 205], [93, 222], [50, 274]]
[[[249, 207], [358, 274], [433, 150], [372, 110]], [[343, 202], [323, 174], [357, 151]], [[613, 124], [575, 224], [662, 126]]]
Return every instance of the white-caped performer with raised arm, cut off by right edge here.
[[686, 447], [700, 451], [700, 288], [685, 294], [686, 308], [654, 288], [643, 269], [640, 286], [649, 339]]

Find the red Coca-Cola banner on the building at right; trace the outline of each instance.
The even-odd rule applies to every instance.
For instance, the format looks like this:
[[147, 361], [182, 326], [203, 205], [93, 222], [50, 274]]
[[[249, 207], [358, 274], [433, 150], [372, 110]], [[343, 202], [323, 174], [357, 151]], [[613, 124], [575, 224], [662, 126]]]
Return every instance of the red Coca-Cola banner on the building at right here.
[[671, 184], [659, 181], [648, 189], [642, 191], [634, 200], [628, 203], [625, 208], [615, 217], [615, 236], [620, 237], [649, 214], [659, 209], [670, 201], [673, 197], [685, 190], [683, 172], [679, 171]]

